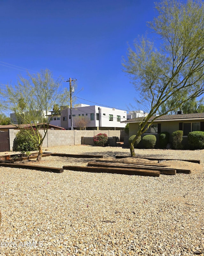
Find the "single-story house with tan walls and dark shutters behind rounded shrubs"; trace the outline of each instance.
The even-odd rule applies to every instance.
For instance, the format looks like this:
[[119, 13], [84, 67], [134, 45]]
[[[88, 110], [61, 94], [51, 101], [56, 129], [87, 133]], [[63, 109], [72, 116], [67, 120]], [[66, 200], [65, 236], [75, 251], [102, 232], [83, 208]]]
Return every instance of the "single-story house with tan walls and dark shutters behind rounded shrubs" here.
[[[151, 117], [149, 122], [154, 118], [155, 117]], [[142, 120], [144, 120], [144, 117], [124, 121], [129, 123], [129, 137], [137, 133]], [[158, 138], [161, 132], [169, 132], [171, 142], [171, 134], [177, 130], [183, 131], [183, 143], [186, 144], [189, 132], [204, 131], [204, 113], [179, 113], [175, 115], [159, 116], [142, 136], [153, 134]]]

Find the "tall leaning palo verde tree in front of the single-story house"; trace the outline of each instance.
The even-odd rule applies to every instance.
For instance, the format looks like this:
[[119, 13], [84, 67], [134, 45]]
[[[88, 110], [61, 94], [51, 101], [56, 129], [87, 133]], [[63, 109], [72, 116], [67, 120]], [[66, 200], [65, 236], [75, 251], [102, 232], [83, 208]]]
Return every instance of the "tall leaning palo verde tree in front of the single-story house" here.
[[[157, 17], [149, 27], [158, 36], [160, 47], [145, 37], [135, 40], [134, 50], [128, 48], [128, 60], [123, 61], [140, 99], [148, 105], [149, 114], [141, 121], [130, 145], [134, 143], [158, 116], [165, 115], [204, 92], [204, 3], [200, 0], [163, 0], [156, 3]], [[180, 100], [180, 95], [186, 95]], [[159, 108], [176, 99], [164, 113]], [[149, 122], [148, 122], [149, 121]]]

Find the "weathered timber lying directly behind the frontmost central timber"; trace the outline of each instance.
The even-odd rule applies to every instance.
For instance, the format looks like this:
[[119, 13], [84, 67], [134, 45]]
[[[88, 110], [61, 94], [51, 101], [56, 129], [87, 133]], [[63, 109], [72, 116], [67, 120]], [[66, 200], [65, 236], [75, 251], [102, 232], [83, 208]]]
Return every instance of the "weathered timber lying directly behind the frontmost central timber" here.
[[124, 163], [107, 163], [107, 162], [97, 162], [97, 161], [90, 161], [88, 166], [95, 166], [95, 167], [113, 167], [113, 168], [131, 168], [131, 169], [140, 169], [140, 170], [151, 170], [151, 171], [159, 171], [162, 174], [167, 175], [175, 175], [176, 169], [168, 169], [163, 167], [151, 167], [151, 166], [141, 166], [141, 165], [134, 165], [134, 164], [124, 164]]

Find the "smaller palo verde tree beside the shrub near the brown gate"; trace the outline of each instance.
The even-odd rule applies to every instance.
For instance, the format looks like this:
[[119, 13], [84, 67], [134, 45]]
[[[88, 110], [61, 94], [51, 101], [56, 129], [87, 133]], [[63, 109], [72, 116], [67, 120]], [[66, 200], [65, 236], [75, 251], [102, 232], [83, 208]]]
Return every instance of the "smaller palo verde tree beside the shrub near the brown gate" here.
[[[62, 80], [60, 78], [54, 80], [52, 73], [47, 69], [35, 75], [29, 73], [27, 75], [27, 79], [20, 76], [17, 85], [6, 86], [6, 90], [0, 91], [0, 95], [2, 106], [7, 109], [7, 112], [15, 113], [17, 123], [12, 120], [10, 123], [23, 129], [25, 133], [28, 133], [28, 129], [22, 128], [21, 123], [28, 124], [28, 127], [33, 129], [33, 135], [30, 138], [38, 142], [37, 161], [40, 161], [42, 143], [47, 135], [50, 118], [52, 118], [49, 111], [53, 107], [57, 111], [58, 106], [67, 105], [69, 92], [66, 89], [62, 90]], [[42, 136], [40, 129], [44, 131]]]

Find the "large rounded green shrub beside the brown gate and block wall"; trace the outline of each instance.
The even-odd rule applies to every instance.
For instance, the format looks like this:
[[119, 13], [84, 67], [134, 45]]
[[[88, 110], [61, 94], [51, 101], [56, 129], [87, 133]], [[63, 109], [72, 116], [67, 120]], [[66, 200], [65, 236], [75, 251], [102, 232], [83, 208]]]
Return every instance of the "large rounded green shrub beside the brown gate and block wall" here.
[[19, 151], [23, 156], [25, 152], [37, 150], [38, 141], [35, 133], [33, 129], [20, 130], [13, 141], [13, 151]]

